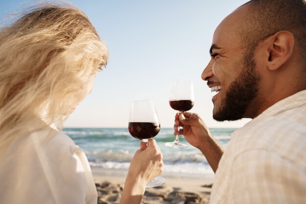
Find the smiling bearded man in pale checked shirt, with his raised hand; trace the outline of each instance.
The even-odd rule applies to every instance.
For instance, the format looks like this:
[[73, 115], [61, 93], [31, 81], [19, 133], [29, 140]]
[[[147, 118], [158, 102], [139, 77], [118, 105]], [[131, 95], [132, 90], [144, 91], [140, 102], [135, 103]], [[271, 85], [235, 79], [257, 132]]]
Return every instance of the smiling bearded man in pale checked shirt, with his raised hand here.
[[175, 116], [216, 172], [210, 204], [306, 204], [305, 53], [305, 0], [252, 0], [215, 30], [201, 76], [213, 117], [253, 120], [223, 153], [197, 114]]

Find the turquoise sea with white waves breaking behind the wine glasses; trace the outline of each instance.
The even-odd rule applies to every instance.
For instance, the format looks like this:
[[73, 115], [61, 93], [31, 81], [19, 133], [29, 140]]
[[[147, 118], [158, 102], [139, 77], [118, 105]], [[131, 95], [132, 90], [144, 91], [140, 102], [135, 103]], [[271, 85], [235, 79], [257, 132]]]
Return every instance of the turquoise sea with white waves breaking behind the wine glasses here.
[[[210, 129], [210, 132], [226, 148], [235, 130]], [[93, 167], [129, 169], [131, 158], [139, 149], [140, 140], [132, 137], [127, 128], [64, 128], [63, 132], [84, 150]], [[202, 153], [188, 144], [183, 136], [180, 136], [180, 142], [188, 145], [187, 149], [165, 146], [165, 142], [175, 139], [173, 129], [161, 128], [154, 139], [163, 154], [164, 172], [214, 175]]]

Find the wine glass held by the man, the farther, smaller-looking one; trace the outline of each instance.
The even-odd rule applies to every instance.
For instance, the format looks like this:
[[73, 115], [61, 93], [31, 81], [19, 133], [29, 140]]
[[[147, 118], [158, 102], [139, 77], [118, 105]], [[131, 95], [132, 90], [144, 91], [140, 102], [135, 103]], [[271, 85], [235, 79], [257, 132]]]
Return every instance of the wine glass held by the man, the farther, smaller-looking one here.
[[[170, 94], [169, 104], [171, 108], [178, 111], [178, 113], [183, 113], [184, 111], [192, 109], [195, 104], [194, 85], [192, 81], [175, 80]], [[165, 145], [180, 149], [187, 148], [187, 145], [179, 142], [178, 134], [173, 142], [166, 142]]]

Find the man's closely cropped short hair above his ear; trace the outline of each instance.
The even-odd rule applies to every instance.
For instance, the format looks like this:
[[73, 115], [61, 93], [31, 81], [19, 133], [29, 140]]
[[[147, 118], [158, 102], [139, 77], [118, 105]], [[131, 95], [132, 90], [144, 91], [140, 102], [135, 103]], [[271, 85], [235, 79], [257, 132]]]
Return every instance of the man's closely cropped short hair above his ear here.
[[305, 0], [250, 0], [249, 14], [239, 30], [242, 47], [255, 47], [270, 35], [281, 30], [290, 31], [298, 45], [303, 64], [306, 66], [306, 1]]

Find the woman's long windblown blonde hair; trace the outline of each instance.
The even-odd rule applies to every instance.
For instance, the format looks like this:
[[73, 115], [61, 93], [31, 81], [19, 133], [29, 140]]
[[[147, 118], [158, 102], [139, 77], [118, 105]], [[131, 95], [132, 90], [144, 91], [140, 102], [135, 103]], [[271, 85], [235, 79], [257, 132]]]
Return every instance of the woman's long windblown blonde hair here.
[[107, 60], [106, 45], [71, 4], [35, 6], [1, 27], [0, 149], [43, 112], [62, 127], [74, 94]]

